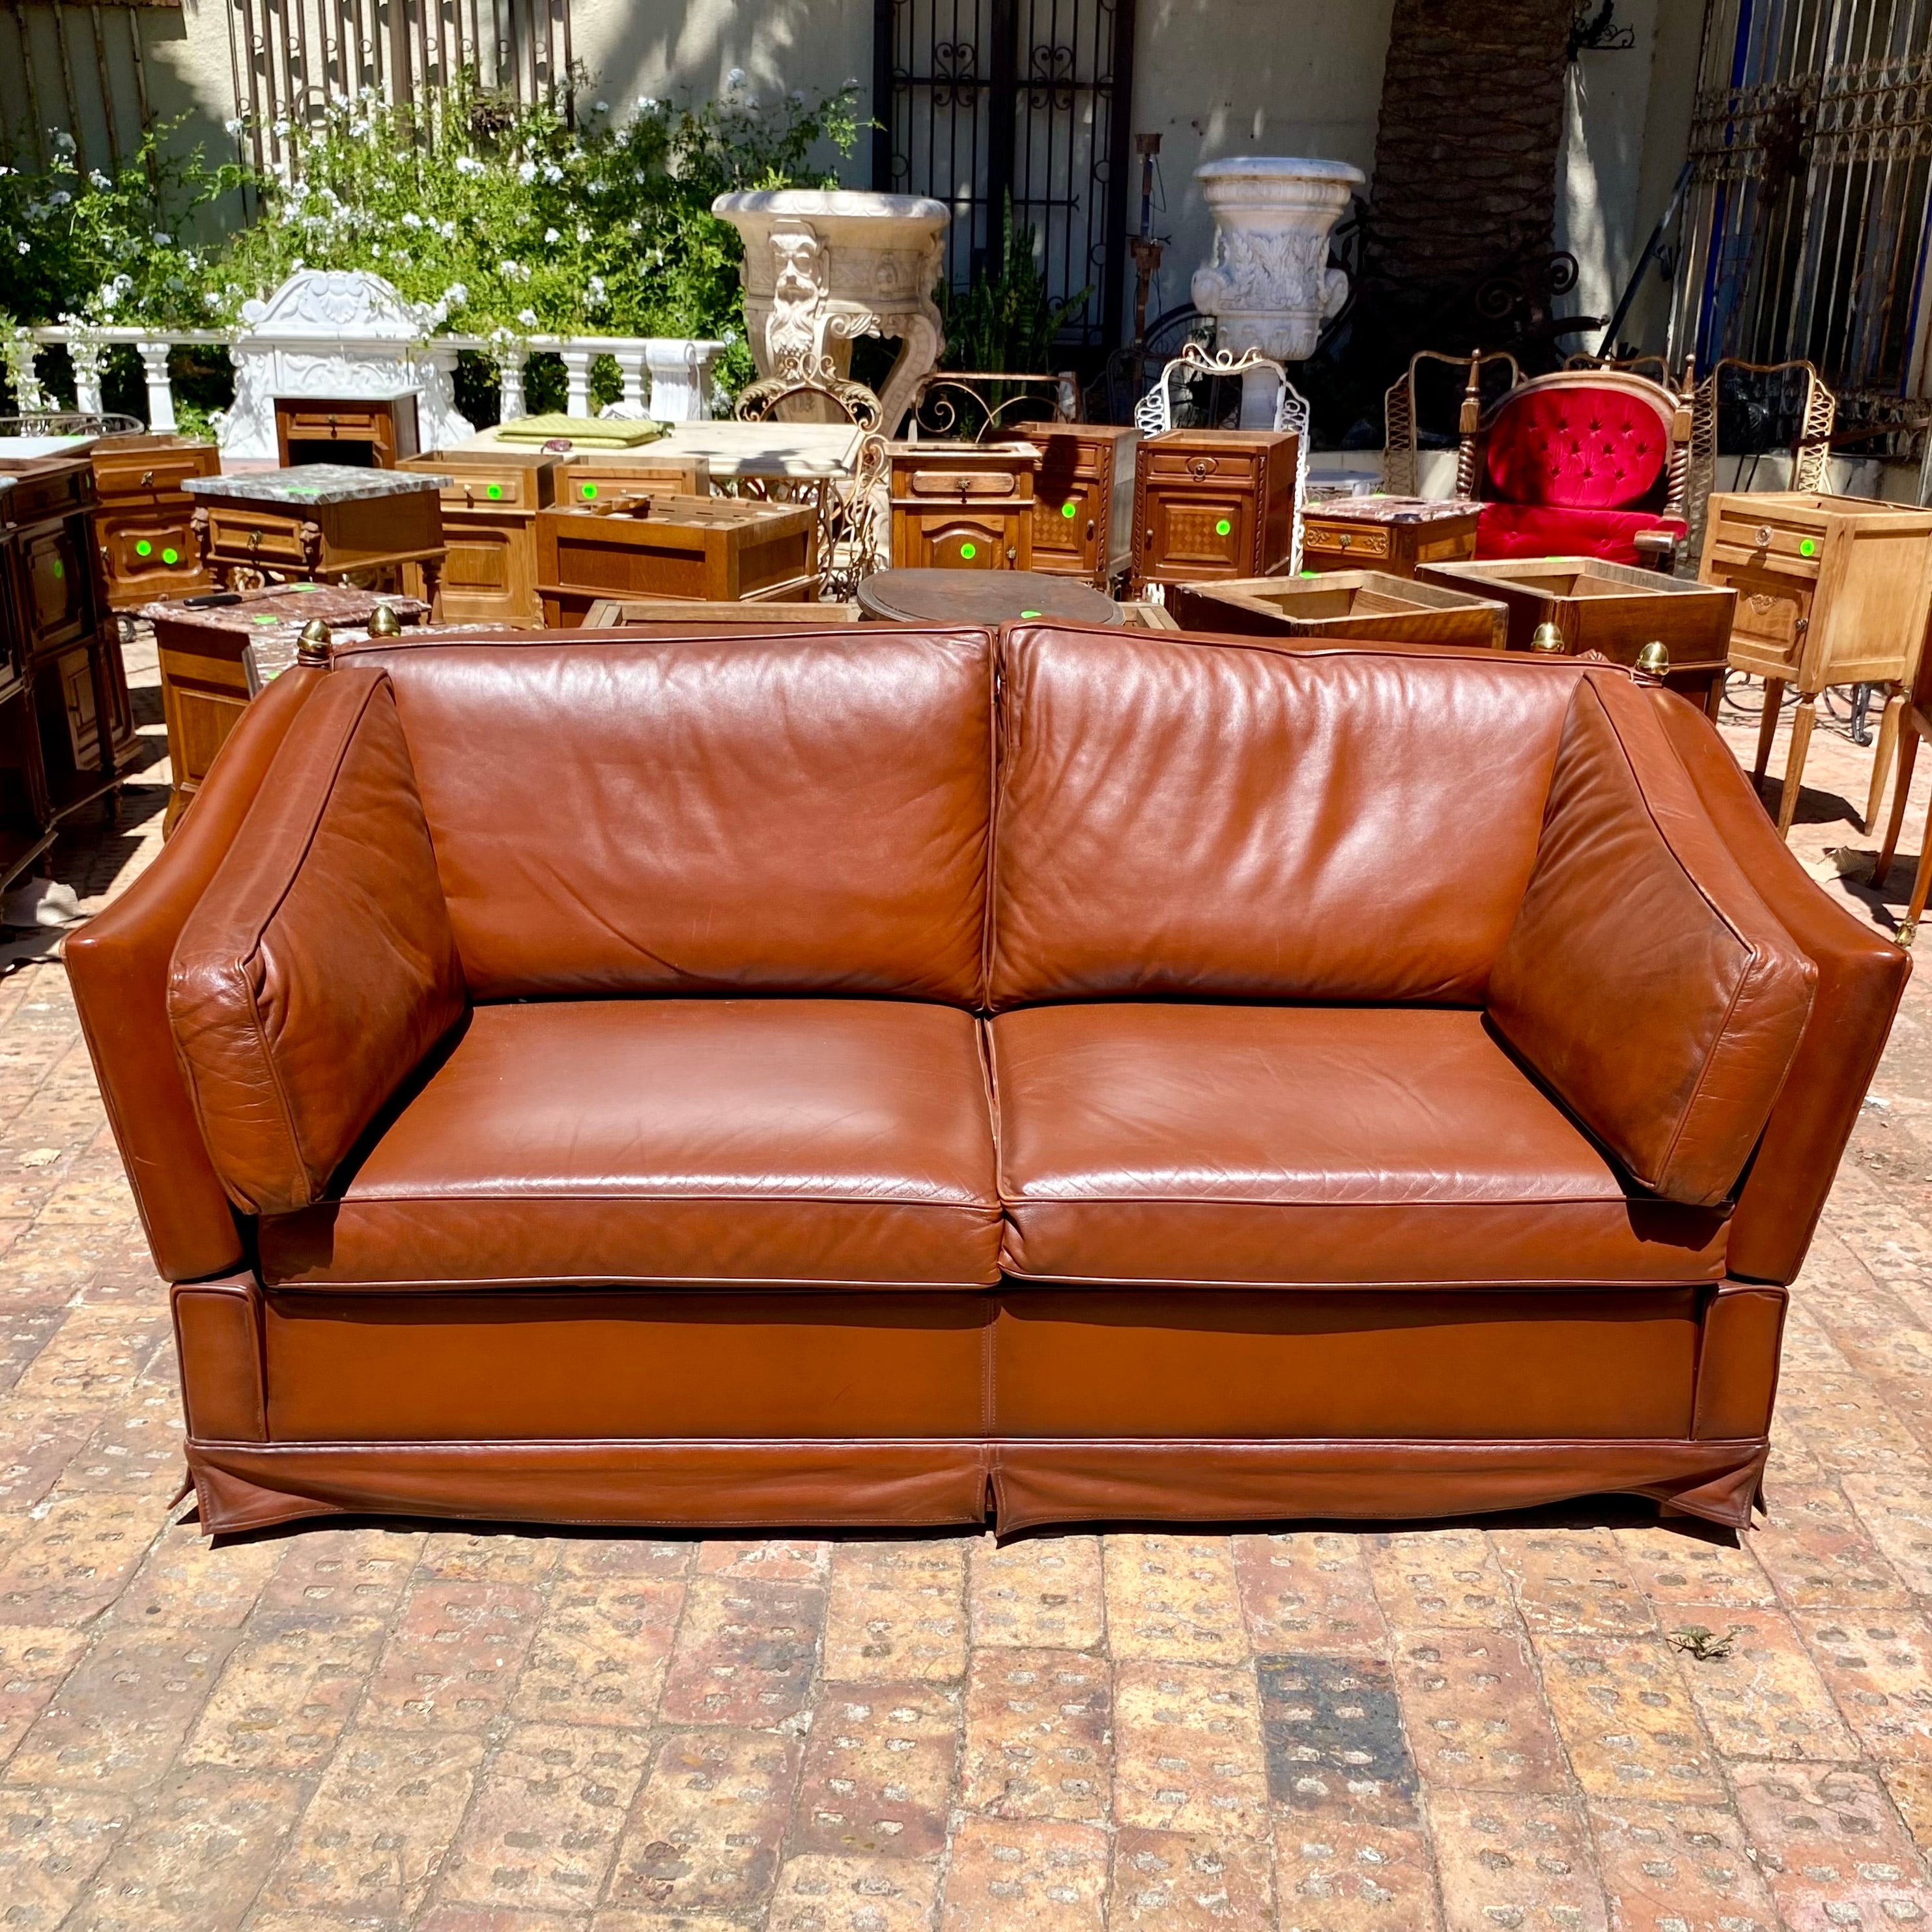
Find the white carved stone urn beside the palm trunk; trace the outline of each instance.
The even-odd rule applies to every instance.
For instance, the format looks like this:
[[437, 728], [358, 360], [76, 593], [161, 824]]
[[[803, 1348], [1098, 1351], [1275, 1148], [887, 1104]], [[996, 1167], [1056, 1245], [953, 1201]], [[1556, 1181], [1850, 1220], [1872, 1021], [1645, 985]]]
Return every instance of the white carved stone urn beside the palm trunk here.
[[[1192, 294], [1219, 325], [1215, 348], [1275, 361], [1314, 355], [1321, 325], [1349, 298], [1349, 276], [1327, 261], [1329, 234], [1368, 176], [1345, 160], [1238, 155], [1204, 162], [1194, 180], [1215, 234]], [[1242, 423], [1248, 413], [1242, 396]]]

